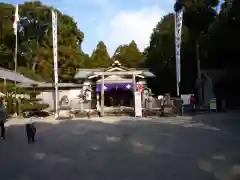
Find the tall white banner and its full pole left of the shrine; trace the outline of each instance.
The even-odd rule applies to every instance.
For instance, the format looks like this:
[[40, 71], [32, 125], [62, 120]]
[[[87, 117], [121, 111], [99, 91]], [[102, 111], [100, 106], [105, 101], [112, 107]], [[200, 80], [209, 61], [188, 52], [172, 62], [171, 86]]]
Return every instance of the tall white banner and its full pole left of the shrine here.
[[55, 87], [55, 116], [58, 117], [58, 49], [57, 49], [57, 13], [52, 10], [53, 71]]

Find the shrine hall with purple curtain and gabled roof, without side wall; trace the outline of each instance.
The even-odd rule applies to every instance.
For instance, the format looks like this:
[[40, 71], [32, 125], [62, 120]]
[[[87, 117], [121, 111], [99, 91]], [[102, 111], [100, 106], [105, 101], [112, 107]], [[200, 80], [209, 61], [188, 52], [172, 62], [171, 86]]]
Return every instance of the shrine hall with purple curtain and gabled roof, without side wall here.
[[137, 87], [141, 86], [144, 98], [151, 91], [146, 80], [153, 77], [155, 75], [148, 69], [127, 68], [118, 60], [108, 68], [79, 69], [75, 75], [77, 83], [83, 85], [83, 90], [91, 92], [92, 108], [101, 103], [105, 107], [133, 107]]

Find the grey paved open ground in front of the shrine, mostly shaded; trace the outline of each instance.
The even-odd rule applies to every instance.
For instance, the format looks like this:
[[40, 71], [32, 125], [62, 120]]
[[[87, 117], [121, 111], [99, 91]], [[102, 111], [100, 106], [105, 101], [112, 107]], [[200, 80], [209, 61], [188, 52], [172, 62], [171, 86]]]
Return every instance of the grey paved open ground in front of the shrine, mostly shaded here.
[[37, 120], [34, 145], [12, 120], [0, 141], [0, 179], [236, 180], [240, 132], [228, 118]]

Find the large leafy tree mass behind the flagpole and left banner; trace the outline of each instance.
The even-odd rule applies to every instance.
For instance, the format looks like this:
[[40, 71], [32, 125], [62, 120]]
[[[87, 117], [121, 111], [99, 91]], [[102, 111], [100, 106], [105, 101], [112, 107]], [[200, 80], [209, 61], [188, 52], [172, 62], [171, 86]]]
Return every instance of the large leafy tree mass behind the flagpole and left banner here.
[[[39, 76], [45, 81], [53, 79], [51, 9], [54, 8], [39, 1], [19, 5], [18, 71], [26, 76], [31, 75], [30, 78], [33, 79]], [[73, 18], [54, 10], [58, 14], [59, 80], [70, 82], [73, 81], [76, 69], [84, 62], [84, 53], [80, 49], [83, 33], [78, 29]], [[8, 69], [14, 68], [15, 36], [12, 29], [14, 11], [13, 5], [0, 4], [0, 13], [2, 13], [0, 25], [4, 24], [0, 26], [0, 65]]]

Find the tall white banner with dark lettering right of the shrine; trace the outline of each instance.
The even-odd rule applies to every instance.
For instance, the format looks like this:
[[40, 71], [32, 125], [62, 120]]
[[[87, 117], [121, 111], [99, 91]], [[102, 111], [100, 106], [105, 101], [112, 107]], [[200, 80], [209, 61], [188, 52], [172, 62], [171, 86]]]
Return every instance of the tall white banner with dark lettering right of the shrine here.
[[176, 81], [177, 95], [180, 95], [179, 85], [181, 81], [181, 34], [182, 34], [183, 9], [175, 13], [175, 48], [176, 48]]

